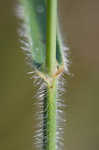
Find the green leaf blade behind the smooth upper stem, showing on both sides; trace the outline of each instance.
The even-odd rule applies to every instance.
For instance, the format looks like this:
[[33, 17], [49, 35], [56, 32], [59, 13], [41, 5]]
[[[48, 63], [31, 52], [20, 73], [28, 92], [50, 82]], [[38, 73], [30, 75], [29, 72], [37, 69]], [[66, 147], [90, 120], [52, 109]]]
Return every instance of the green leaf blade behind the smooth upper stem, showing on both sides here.
[[[45, 72], [46, 61], [46, 0], [20, 0], [24, 11], [23, 20], [27, 27], [27, 37], [30, 42], [33, 67]], [[61, 36], [57, 27], [56, 43], [57, 63], [63, 64], [63, 49]]]

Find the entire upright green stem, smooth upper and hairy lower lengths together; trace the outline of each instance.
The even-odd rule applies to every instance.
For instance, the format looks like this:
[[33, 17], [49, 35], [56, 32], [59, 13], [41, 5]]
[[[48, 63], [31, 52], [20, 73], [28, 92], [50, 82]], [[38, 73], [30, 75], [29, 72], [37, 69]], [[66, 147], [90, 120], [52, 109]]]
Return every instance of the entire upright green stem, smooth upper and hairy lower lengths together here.
[[51, 79], [48, 84], [44, 107], [44, 150], [56, 150], [56, 82], [53, 78], [56, 71], [56, 26], [57, 0], [47, 0], [47, 47], [46, 68]]

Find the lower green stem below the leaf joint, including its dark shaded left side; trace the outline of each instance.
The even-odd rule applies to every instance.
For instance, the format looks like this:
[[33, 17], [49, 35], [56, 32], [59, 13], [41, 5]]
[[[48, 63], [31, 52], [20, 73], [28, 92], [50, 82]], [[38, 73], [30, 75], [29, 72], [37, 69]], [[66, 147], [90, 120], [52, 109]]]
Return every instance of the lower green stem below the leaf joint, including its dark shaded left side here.
[[44, 98], [43, 149], [56, 150], [56, 79]]

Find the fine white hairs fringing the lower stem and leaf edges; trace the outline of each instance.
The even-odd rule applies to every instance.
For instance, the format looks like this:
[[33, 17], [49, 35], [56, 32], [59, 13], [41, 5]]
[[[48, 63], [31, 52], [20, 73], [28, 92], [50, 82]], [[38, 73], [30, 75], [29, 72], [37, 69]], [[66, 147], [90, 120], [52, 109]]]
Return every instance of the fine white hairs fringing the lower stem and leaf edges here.
[[[47, 129], [44, 128], [44, 119], [46, 119], [48, 116], [44, 113], [47, 111], [48, 106], [46, 106], [46, 109], [44, 109], [44, 97], [47, 95], [47, 84], [46, 81], [44, 81], [44, 78], [38, 75], [37, 70], [32, 65], [32, 53], [31, 53], [31, 46], [33, 44], [33, 41], [29, 34], [29, 29], [27, 27], [27, 24], [24, 22], [24, 9], [21, 5], [17, 5], [17, 16], [20, 19], [20, 29], [18, 30], [18, 34], [20, 35], [20, 43], [21, 48], [25, 51], [26, 55], [26, 62], [31, 66], [32, 71], [28, 72], [28, 75], [30, 75], [31, 79], [33, 80], [33, 85], [35, 88], [35, 95], [33, 96], [32, 106], [33, 109], [36, 107], [37, 111], [36, 113], [32, 113], [35, 116], [36, 126], [35, 126], [35, 132], [32, 136], [32, 143], [36, 145], [38, 150], [43, 150], [43, 141], [47, 143], [47, 135], [44, 136], [44, 131]], [[63, 63], [64, 63], [64, 71], [57, 77], [57, 95], [56, 95], [56, 148], [57, 150], [63, 150], [64, 146], [64, 101], [62, 99], [63, 94], [65, 92], [64, 89], [64, 82], [66, 82], [66, 79], [64, 78], [64, 74], [68, 73], [68, 48], [66, 46], [63, 46]], [[35, 105], [35, 106], [34, 106]], [[35, 114], [34, 114], [35, 113]]]

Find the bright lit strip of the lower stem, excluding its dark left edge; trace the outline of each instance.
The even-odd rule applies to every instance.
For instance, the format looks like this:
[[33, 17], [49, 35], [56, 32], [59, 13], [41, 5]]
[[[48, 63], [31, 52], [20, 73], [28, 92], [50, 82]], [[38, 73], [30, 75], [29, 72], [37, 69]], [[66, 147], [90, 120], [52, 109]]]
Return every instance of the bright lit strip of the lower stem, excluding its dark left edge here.
[[53, 81], [53, 88], [48, 87], [48, 148], [56, 150], [56, 80]]

